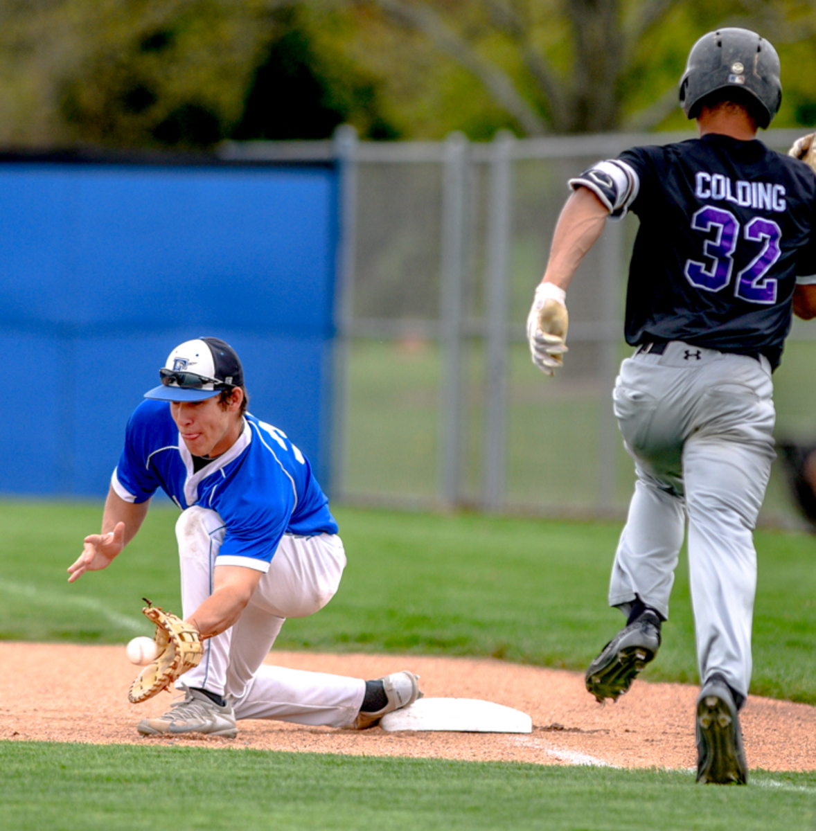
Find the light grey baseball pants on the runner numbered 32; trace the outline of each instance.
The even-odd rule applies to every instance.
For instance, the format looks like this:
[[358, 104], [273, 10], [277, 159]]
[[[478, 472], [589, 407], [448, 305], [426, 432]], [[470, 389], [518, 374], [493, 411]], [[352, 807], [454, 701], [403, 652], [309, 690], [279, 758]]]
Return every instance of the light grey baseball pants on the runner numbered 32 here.
[[753, 541], [774, 453], [768, 361], [671, 342], [623, 361], [613, 394], [637, 483], [609, 603], [669, 613], [688, 523], [700, 681], [720, 672], [748, 694], [756, 593]]

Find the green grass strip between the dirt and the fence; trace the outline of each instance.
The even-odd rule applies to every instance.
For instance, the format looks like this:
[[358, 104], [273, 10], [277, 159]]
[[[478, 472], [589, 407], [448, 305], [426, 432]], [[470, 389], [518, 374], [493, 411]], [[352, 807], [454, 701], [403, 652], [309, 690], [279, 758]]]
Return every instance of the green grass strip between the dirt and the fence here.
[[[336, 511], [349, 564], [318, 615], [278, 647], [494, 656], [582, 670], [622, 618], [607, 607], [619, 524]], [[97, 504], [0, 502], [0, 638], [125, 642], [149, 633], [141, 597], [179, 608], [175, 509], [155, 508], [111, 568], [66, 583]], [[751, 691], [816, 703], [816, 541], [759, 532]], [[685, 558], [652, 681], [696, 681]]]

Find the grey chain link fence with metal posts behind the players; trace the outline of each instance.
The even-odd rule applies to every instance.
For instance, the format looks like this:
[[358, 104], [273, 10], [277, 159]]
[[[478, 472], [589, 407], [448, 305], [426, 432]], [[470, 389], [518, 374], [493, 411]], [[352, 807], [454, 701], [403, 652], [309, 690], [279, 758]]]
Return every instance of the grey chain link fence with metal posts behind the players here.
[[[224, 148], [341, 165], [333, 499], [622, 516], [633, 474], [611, 391], [631, 352], [622, 309], [637, 219], [608, 222], [582, 263], [554, 378], [532, 365], [524, 322], [567, 180], [633, 145], [692, 135], [373, 143], [342, 127], [332, 141]], [[761, 138], [786, 150], [797, 135]], [[816, 437], [814, 334], [794, 325], [774, 376], [778, 435]], [[779, 471], [763, 519], [795, 524]]]

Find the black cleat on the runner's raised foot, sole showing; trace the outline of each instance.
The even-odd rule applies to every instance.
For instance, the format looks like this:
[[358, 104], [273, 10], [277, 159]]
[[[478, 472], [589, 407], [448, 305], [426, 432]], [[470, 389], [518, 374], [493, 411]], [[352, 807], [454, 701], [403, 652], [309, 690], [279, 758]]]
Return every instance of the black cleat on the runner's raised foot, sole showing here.
[[636, 621], [623, 627], [587, 670], [587, 690], [603, 704], [625, 693], [637, 674], [654, 660], [660, 648], [660, 617], [647, 609]]

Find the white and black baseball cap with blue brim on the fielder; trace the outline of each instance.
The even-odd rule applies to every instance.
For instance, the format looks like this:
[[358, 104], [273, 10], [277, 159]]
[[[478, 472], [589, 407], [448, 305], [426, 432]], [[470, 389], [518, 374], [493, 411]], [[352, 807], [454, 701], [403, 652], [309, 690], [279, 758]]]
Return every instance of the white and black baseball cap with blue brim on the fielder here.
[[218, 337], [184, 341], [159, 370], [161, 385], [145, 392], [159, 401], [206, 401], [243, 386], [243, 366], [233, 347]]

